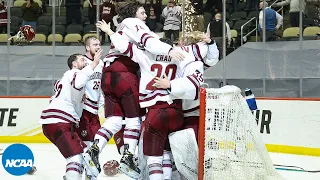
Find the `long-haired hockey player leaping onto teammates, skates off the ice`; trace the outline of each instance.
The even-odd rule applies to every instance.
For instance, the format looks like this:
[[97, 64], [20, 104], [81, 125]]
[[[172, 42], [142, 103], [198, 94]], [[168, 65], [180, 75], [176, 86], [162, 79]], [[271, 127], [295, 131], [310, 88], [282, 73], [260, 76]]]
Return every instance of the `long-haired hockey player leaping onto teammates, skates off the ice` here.
[[[158, 37], [145, 24], [145, 10], [139, 2], [130, 1], [127, 5], [118, 10], [122, 18], [126, 18], [119, 28], [119, 32], [126, 35], [131, 41], [139, 43], [140, 48], [162, 54], [170, 55], [175, 59], [182, 59], [180, 51], [171, 46], [162, 43]], [[129, 18], [130, 17], [130, 18]], [[134, 17], [134, 18], [133, 18]], [[137, 32], [139, 31], [139, 32]], [[157, 48], [152, 47], [157, 46]], [[129, 56], [129, 58], [131, 58]], [[122, 117], [125, 117], [126, 128], [124, 131], [124, 154], [120, 161], [120, 170], [123, 173], [135, 177], [139, 174], [139, 169], [135, 163], [134, 152], [139, 137], [140, 118], [145, 113], [140, 110], [138, 104], [138, 78], [135, 76], [139, 66], [130, 61], [111, 46], [110, 53], [104, 59], [106, 66], [102, 76], [102, 90], [105, 93], [105, 113], [107, 117], [106, 124], [98, 131], [95, 144], [89, 149], [89, 154], [93, 159], [97, 159], [99, 152], [102, 151], [108, 140], [121, 129]], [[117, 61], [115, 61], [117, 59]], [[112, 79], [112, 81], [111, 81]], [[127, 111], [127, 112], [125, 112]], [[108, 117], [109, 116], [109, 117]], [[98, 161], [95, 165], [101, 171]], [[134, 171], [127, 171], [126, 169]]]

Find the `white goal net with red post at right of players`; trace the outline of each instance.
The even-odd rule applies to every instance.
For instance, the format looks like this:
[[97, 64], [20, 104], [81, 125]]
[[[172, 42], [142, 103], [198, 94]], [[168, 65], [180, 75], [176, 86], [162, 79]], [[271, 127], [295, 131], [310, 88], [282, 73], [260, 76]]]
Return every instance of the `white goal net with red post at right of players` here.
[[282, 180], [241, 90], [200, 91], [199, 180]]

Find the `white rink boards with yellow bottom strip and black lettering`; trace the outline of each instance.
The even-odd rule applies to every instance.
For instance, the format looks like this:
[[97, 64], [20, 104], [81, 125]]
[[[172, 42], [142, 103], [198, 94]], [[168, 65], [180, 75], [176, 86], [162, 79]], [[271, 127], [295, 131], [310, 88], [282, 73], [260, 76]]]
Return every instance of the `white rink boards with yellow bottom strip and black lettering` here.
[[[254, 114], [270, 152], [320, 156], [320, 99], [259, 98]], [[49, 97], [2, 97], [0, 142], [49, 142], [38, 123]], [[103, 109], [99, 110], [100, 117]], [[101, 118], [101, 122], [104, 122]], [[114, 143], [113, 140], [110, 143]]]

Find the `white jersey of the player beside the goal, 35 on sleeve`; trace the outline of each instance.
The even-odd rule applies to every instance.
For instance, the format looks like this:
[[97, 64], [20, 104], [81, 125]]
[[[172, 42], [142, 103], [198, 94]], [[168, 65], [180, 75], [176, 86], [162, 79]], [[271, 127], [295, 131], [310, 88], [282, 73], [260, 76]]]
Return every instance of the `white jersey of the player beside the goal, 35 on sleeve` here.
[[[189, 55], [194, 55], [194, 58], [201, 59], [201, 61], [198, 60], [186, 64], [183, 67], [182, 72], [180, 72], [181, 74], [179, 75], [179, 77], [182, 78], [177, 78], [170, 82], [170, 94], [173, 95], [171, 96], [171, 98], [183, 99], [182, 109], [184, 112], [184, 117], [199, 116], [199, 88], [200, 85], [202, 85], [204, 82], [204, 66], [211, 67], [217, 64], [217, 62], [219, 61], [219, 50], [216, 44], [214, 43], [206, 46], [208, 47], [208, 49], [203, 48], [204, 43], [197, 43], [196, 45], [192, 45], [193, 49], [196, 50], [197, 53]], [[195, 77], [197, 77], [199, 84], [195, 82]], [[190, 82], [193, 84], [193, 86], [187, 85], [190, 84]]]

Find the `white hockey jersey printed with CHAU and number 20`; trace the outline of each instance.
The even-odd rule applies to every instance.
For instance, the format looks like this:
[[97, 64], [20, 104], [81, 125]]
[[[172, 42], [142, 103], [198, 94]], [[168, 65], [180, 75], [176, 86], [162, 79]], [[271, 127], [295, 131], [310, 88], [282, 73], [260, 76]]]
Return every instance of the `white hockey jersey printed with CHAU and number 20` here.
[[[169, 92], [165, 89], [157, 89], [154, 87], [154, 78], [163, 77], [164, 74], [166, 74], [170, 80], [175, 79], [177, 76], [182, 77], [184, 67], [191, 62], [202, 61], [202, 57], [205, 57], [208, 52], [208, 46], [205, 43], [185, 46], [181, 48], [181, 51], [185, 55], [185, 59], [182, 62], [177, 62], [171, 60], [171, 58], [166, 55], [154, 55], [148, 51], [143, 51], [131, 42], [125, 43], [126, 40], [119, 33], [113, 34], [110, 38], [117, 50], [131, 57], [133, 61], [139, 63], [141, 69], [139, 86], [139, 100], [141, 107], [150, 107], [158, 101], [164, 101], [170, 104], [173, 99], [170, 97], [172, 95], [169, 94]], [[202, 49], [202, 51], [200, 51], [200, 49]], [[212, 65], [216, 62], [216, 59], [211, 59], [211, 61], [206, 63]], [[201, 79], [195, 75], [190, 76], [189, 82], [186, 82], [187, 84], [184, 84], [182, 87], [199, 87], [200, 80]], [[173, 95], [180, 95], [180, 92], [177, 92], [177, 94]], [[192, 99], [195, 99], [195, 97], [192, 97]]]

